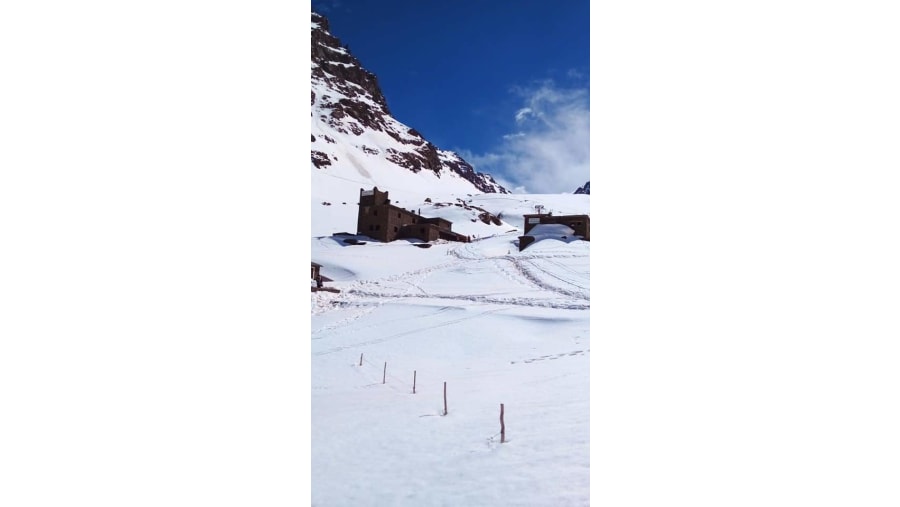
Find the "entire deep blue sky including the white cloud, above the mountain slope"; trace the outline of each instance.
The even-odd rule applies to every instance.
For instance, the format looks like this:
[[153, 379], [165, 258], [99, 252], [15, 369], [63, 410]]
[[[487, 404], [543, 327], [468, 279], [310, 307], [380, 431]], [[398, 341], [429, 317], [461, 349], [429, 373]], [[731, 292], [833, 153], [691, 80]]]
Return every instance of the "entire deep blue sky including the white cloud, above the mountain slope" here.
[[589, 179], [588, 0], [313, 0], [395, 118], [513, 191]]

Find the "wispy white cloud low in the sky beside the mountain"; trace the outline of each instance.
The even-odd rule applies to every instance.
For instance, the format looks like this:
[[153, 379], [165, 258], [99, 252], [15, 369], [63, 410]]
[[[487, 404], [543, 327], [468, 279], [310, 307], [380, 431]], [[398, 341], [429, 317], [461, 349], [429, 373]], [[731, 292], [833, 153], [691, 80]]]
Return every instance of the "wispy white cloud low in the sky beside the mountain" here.
[[590, 178], [588, 90], [545, 81], [514, 93], [524, 102], [514, 115], [517, 131], [487, 153], [460, 155], [511, 191], [574, 192]]

